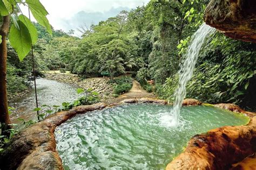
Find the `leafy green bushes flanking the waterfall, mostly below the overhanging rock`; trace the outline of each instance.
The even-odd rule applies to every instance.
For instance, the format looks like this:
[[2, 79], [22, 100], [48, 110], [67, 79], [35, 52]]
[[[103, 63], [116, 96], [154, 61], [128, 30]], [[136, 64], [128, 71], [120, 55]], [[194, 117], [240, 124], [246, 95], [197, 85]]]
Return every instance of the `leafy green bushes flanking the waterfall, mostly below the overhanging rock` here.
[[[186, 97], [255, 109], [255, 49], [255, 44], [216, 34], [199, 56]], [[170, 77], [163, 86], [157, 86], [157, 94], [172, 101], [177, 82], [177, 75]]]

